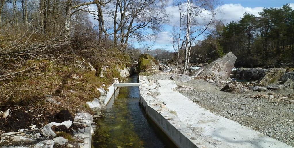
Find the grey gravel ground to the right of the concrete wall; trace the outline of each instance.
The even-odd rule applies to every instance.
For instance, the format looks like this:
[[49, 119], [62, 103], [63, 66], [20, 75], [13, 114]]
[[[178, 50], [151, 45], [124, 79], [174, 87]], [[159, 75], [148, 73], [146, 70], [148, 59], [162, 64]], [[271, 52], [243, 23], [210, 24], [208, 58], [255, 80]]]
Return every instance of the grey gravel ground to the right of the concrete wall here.
[[[148, 76], [152, 81], [169, 79], [170, 74]], [[219, 91], [217, 86], [204, 81], [192, 80], [176, 82], [178, 86], [194, 87], [193, 91], [179, 91], [203, 108], [225, 118], [234, 120], [251, 129], [261, 132], [294, 146], [294, 104], [269, 102], [268, 99], [254, 99], [244, 95], [265, 94], [254, 92], [231, 94]], [[294, 90], [283, 93], [294, 94]]]

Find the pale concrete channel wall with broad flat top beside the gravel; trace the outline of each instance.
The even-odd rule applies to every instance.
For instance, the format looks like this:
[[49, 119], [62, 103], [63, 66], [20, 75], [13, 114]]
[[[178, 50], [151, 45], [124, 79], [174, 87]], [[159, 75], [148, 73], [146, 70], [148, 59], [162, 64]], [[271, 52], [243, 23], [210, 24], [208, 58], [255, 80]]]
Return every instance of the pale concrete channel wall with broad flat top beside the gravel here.
[[173, 91], [174, 80], [150, 82], [140, 76], [140, 83], [140, 103], [146, 114], [178, 147], [291, 147], [201, 108]]

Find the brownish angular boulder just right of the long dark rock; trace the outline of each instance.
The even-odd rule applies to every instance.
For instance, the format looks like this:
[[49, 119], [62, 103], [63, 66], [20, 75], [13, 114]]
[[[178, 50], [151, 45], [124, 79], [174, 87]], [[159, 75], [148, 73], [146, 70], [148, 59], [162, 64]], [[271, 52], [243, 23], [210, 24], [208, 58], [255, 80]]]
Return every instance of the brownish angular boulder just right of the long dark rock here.
[[285, 72], [286, 72], [286, 69], [271, 68], [267, 72], [265, 72], [265, 75], [263, 76], [263, 78], [258, 80], [257, 83], [261, 85], [276, 84], [276, 82], [283, 76]]

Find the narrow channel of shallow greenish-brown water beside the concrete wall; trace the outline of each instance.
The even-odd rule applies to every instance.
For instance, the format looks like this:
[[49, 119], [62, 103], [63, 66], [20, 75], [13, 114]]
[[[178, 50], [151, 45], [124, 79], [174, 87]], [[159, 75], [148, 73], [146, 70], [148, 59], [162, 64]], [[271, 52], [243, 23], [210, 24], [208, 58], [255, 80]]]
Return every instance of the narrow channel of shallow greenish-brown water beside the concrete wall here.
[[[125, 83], [137, 83], [132, 76]], [[149, 119], [139, 106], [139, 87], [122, 87], [104, 110], [104, 116], [95, 120], [98, 130], [92, 137], [92, 147], [98, 148], [161, 148], [176, 147]]]

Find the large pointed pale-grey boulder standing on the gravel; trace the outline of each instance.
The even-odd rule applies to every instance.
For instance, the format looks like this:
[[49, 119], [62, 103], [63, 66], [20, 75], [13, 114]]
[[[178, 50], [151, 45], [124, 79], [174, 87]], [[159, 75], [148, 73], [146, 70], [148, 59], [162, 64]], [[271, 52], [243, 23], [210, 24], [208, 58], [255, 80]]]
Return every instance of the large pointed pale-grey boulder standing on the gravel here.
[[210, 64], [194, 70], [190, 73], [190, 75], [194, 77], [215, 76], [217, 81], [226, 80], [232, 73], [236, 59], [237, 57], [232, 52], [229, 52], [225, 56], [211, 62]]

